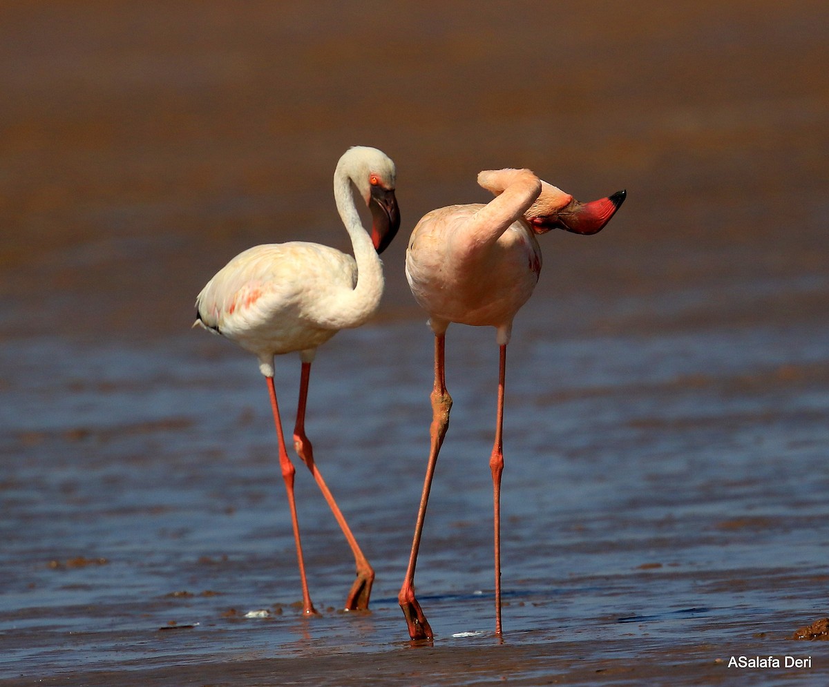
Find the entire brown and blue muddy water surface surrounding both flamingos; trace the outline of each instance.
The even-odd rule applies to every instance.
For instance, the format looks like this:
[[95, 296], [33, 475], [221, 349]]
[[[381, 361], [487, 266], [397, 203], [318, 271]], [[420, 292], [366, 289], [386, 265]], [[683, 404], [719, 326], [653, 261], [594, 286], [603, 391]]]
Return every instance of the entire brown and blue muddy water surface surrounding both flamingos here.
[[[829, 649], [829, 91], [822, 3], [0, 9], [0, 684], [821, 684]], [[406, 235], [527, 166], [588, 200], [546, 235], [508, 353], [505, 636], [493, 636], [497, 348], [448, 333], [455, 404], [418, 569], [431, 335], [384, 254], [370, 326], [314, 365], [308, 433], [376, 567], [298, 473], [305, 620], [255, 360], [189, 331], [245, 247], [347, 248], [348, 145]], [[288, 415], [298, 360], [278, 360]], [[247, 617], [250, 612], [256, 617]], [[729, 668], [731, 656], [811, 665]]]

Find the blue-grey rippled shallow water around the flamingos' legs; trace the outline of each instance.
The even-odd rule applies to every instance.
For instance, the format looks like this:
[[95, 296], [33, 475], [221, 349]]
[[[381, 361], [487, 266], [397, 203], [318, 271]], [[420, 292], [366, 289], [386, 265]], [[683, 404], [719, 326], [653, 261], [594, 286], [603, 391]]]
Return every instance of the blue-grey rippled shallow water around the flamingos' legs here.
[[[829, 580], [820, 328], [545, 341], [537, 327], [509, 360], [504, 646], [560, 660], [575, 643], [583, 662], [617, 668], [648, 652], [711, 670], [731, 654], [815, 654], [783, 640], [822, 612]], [[417, 582], [434, 651], [487, 656], [502, 648], [487, 470], [497, 351], [489, 331], [450, 333], [457, 391]], [[410, 650], [396, 591], [422, 480], [430, 338], [420, 322], [367, 327], [315, 364], [308, 432], [378, 578], [371, 614], [335, 610], [352, 563], [300, 472], [325, 609], [312, 620], [292, 606], [293, 539], [253, 361], [198, 332], [142, 350], [7, 346], [2, 674], [107, 684], [93, 671], [116, 670], [129, 684], [123, 671], [250, 664], [261, 679], [279, 668], [260, 661]], [[376, 350], [400, 351], [394, 374], [372, 365]], [[475, 358], [463, 371], [461, 351]], [[43, 356], [72, 360], [60, 393], [32, 382]], [[278, 373], [292, 397], [293, 372]], [[268, 617], [245, 617], [260, 609]], [[702, 648], [688, 657], [691, 637]], [[544, 666], [502, 670], [534, 684], [552, 675]], [[270, 684], [319, 674], [296, 680]]]

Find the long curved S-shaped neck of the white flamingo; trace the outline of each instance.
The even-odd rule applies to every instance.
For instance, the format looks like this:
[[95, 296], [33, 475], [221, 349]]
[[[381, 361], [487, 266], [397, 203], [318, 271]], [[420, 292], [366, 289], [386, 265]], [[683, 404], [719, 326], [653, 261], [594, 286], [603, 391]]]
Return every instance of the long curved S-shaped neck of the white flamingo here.
[[337, 167], [334, 174], [334, 200], [348, 235], [357, 264], [357, 283], [353, 290], [343, 291], [336, 302], [337, 312], [330, 313], [332, 326], [359, 327], [380, 305], [383, 295], [383, 264], [363, 227], [354, 205], [351, 178], [346, 169]]

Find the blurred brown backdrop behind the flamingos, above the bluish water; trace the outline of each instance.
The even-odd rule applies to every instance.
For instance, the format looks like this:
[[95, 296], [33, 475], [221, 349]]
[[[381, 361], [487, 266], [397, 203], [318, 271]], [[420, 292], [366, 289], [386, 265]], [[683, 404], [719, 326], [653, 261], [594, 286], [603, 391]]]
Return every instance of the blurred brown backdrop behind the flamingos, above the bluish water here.
[[[541, 293], [645, 306], [604, 327], [826, 317], [827, 18], [805, 0], [4, 2], [0, 322], [182, 331], [245, 247], [348, 249], [331, 178], [353, 144], [398, 166], [386, 316], [420, 317], [402, 271], [419, 216], [485, 201], [478, 170], [510, 166], [582, 200], [628, 189], [600, 237], [545, 237]], [[803, 275], [797, 298], [741, 291]], [[647, 307], [689, 283], [711, 298]]]

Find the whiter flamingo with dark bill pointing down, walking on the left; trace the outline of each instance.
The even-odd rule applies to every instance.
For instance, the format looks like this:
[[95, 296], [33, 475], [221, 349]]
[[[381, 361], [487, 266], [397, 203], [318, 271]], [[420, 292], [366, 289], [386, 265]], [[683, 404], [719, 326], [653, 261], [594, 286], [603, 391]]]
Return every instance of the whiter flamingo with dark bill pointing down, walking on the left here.
[[[371, 209], [371, 237], [364, 229], [352, 195], [352, 185]], [[308, 593], [303, 549], [293, 496], [293, 467], [285, 448], [279, 405], [274, 389], [274, 356], [298, 351], [302, 361], [293, 446], [322, 491], [346, 536], [356, 563], [356, 580], [346, 600], [347, 610], [365, 609], [374, 570], [351, 534], [345, 517], [322, 479], [305, 434], [308, 378], [317, 347], [344, 328], [359, 327], [371, 317], [383, 294], [381, 253], [400, 227], [395, 199], [395, 164], [376, 148], [354, 147], [345, 152], [334, 172], [334, 198], [351, 237], [354, 257], [328, 246], [292, 241], [245, 250], [216, 273], [196, 298], [196, 325], [205, 327], [259, 358], [268, 383], [279, 441], [279, 463], [288, 491], [293, 537], [297, 546], [303, 612], [316, 615]]]

